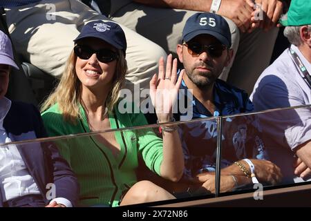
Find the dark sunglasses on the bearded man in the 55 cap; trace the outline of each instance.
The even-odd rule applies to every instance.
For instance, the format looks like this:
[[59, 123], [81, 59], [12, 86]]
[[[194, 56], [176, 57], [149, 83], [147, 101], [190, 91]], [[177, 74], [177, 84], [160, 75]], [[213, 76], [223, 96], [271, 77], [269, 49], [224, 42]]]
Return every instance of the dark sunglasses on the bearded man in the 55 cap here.
[[223, 44], [211, 44], [207, 46], [198, 42], [189, 42], [183, 45], [188, 48], [188, 52], [192, 57], [198, 57], [203, 51], [207, 51], [211, 57], [220, 57], [227, 48]]

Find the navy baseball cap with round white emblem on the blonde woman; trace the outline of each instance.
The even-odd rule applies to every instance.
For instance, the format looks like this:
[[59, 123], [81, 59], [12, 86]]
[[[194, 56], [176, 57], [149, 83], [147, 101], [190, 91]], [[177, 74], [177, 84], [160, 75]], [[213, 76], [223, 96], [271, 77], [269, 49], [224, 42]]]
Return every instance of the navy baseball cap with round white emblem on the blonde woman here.
[[115, 22], [102, 20], [88, 22], [82, 28], [82, 31], [78, 37], [73, 41], [77, 42], [78, 40], [86, 37], [96, 37], [98, 39], [102, 39], [115, 48], [121, 49], [125, 55], [126, 38], [124, 31]]

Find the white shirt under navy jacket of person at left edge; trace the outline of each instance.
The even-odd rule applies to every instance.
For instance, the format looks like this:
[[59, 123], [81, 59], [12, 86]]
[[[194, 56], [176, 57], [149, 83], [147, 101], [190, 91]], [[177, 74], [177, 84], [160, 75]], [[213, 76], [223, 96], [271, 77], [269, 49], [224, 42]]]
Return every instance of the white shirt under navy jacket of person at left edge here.
[[[0, 144], [11, 142], [3, 128], [3, 120], [10, 110], [11, 101], [4, 97], [0, 99]], [[3, 202], [29, 194], [41, 195], [35, 180], [32, 178], [15, 144], [0, 146], [0, 191]], [[65, 198], [55, 198], [53, 201], [72, 206]], [[53, 202], [52, 201], [52, 202]]]

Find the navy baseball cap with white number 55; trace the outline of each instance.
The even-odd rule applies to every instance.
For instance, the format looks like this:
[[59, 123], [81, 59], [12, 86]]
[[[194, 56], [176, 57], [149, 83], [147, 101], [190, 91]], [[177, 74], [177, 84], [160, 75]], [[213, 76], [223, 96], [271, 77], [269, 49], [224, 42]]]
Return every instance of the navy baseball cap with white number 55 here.
[[220, 15], [209, 12], [198, 12], [189, 17], [184, 30], [182, 30], [182, 40], [188, 42], [201, 34], [212, 35], [228, 48], [231, 47], [229, 25]]

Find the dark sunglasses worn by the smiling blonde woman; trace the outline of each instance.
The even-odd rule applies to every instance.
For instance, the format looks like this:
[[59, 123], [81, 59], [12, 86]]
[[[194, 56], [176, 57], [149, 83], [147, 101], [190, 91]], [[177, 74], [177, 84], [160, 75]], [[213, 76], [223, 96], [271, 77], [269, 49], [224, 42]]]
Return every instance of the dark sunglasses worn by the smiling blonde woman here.
[[98, 61], [102, 63], [109, 63], [119, 58], [117, 52], [114, 52], [107, 48], [102, 48], [100, 50], [93, 50], [88, 46], [76, 45], [75, 48], [73, 48], [73, 51], [75, 52], [75, 55], [77, 55], [77, 57], [84, 60], [89, 59], [95, 53]]

